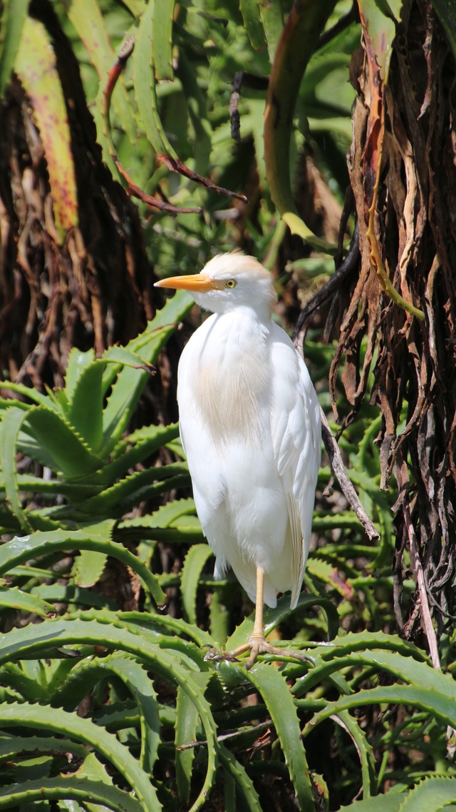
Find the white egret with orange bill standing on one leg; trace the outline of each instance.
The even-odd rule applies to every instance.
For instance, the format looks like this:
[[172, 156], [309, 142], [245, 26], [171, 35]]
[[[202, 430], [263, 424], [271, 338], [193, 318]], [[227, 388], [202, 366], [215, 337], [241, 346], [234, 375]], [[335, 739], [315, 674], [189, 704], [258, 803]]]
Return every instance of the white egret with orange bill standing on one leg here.
[[199, 274], [156, 287], [190, 292], [212, 315], [178, 368], [179, 430], [196, 512], [215, 554], [255, 603], [247, 667], [272, 651], [264, 603], [290, 591], [296, 606], [312, 533], [320, 468], [320, 407], [303, 357], [273, 321], [271, 274], [242, 252], [218, 254]]

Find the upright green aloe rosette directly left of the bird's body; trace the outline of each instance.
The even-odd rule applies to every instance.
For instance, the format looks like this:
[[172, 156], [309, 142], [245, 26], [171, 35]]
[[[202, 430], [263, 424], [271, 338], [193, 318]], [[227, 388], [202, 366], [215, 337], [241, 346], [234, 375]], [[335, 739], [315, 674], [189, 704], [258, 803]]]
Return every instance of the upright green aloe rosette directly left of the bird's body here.
[[[3, 533], [76, 529], [120, 517], [146, 493], [152, 497], [188, 482], [183, 463], [133, 470], [178, 437], [177, 425], [125, 432], [161, 348], [190, 306], [190, 297], [174, 297], [142, 335], [100, 358], [73, 348], [62, 389], [43, 395], [6, 382], [29, 402], [0, 401], [0, 487], [8, 508]], [[18, 473], [18, 453], [47, 475]], [[63, 503], [29, 509], [32, 495], [44, 502], [59, 495]]]

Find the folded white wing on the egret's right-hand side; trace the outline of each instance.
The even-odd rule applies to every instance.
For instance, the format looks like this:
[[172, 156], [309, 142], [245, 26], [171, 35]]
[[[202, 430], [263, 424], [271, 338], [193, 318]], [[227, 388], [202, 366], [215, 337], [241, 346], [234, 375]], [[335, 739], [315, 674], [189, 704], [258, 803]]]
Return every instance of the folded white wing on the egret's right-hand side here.
[[286, 492], [291, 533], [291, 607], [299, 597], [312, 532], [320, 468], [320, 407], [308, 369], [288, 336], [274, 326], [271, 429], [277, 471]]

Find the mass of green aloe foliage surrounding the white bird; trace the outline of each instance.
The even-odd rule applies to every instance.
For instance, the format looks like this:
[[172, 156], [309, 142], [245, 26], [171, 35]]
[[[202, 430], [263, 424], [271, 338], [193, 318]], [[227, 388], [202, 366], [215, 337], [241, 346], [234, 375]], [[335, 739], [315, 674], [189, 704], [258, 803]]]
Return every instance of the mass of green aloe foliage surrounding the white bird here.
[[[301, 14], [304, 6], [296, 4]], [[244, 84], [239, 144], [230, 136], [229, 109], [237, 71], [267, 77], [282, 58], [290, 8], [277, 0], [3, 2], [0, 90], [7, 103], [14, 71], [32, 106], [54, 211], [54, 231], [49, 222], [43, 228], [56, 250], [65, 252], [82, 216], [68, 98], [53, 61], [50, 30], [58, 25], [79, 63], [97, 143], [114, 178], [125, 185], [127, 172], [160, 205], [202, 209], [171, 214], [140, 202], [144, 247], [156, 273], [190, 273], [215, 248], [240, 246], [276, 276], [285, 268], [277, 276], [277, 318], [290, 325], [299, 306], [296, 286], [312, 292], [333, 274], [337, 224], [329, 200], [337, 220], [355, 96], [348, 63], [360, 37], [346, 2], [308, 3], [303, 37], [317, 47], [288, 127], [288, 171], [288, 155], [277, 162], [277, 144], [265, 142], [266, 89]], [[391, 38], [387, 4], [379, 3], [376, 14]], [[333, 25], [333, 36], [318, 42]], [[106, 107], [106, 76], [129, 37], [135, 49]], [[37, 59], [48, 60], [38, 80]], [[284, 214], [289, 178], [305, 208], [304, 155], [318, 167], [324, 197], [320, 217], [304, 224], [292, 213], [291, 238], [277, 208]], [[233, 203], [182, 171], [170, 172], [164, 157], [247, 194], [249, 202]], [[349, 222], [346, 240], [352, 230]], [[308, 660], [264, 656], [247, 671], [239, 662], [204, 658], [207, 648], [232, 649], [247, 639], [252, 607], [234, 580], [213, 581], [177, 425], [136, 419], [150, 370], [162, 371], [161, 352], [190, 310], [190, 298], [179, 293], [125, 346], [97, 356], [71, 349], [61, 387], [6, 380], [0, 808], [456, 808], [454, 641], [441, 635], [439, 671], [424, 642], [415, 646], [395, 633], [397, 494], [394, 480], [389, 492], [379, 490], [374, 439], [381, 415], [368, 400], [339, 444], [380, 540], [369, 542], [337, 484], [325, 493], [324, 464], [307, 589], [294, 612], [285, 597], [265, 613], [281, 646], [306, 650]], [[196, 319], [192, 313], [191, 326]], [[316, 323], [306, 357], [328, 413], [332, 356]], [[369, 390], [372, 383], [371, 376]], [[349, 409], [342, 395], [338, 408], [342, 415]], [[411, 577], [403, 589], [410, 598]]]

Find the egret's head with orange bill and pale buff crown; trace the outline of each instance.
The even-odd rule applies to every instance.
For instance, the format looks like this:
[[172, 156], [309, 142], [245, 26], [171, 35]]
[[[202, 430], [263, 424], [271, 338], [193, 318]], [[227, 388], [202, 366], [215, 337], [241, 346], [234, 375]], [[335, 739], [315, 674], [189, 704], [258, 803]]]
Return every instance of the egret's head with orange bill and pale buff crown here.
[[200, 274], [161, 279], [155, 287], [188, 291], [196, 304], [213, 313], [228, 313], [238, 307], [270, 313], [277, 300], [269, 272], [255, 257], [240, 252], [218, 254]]

